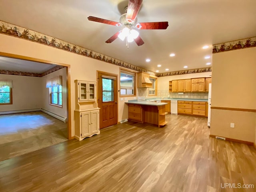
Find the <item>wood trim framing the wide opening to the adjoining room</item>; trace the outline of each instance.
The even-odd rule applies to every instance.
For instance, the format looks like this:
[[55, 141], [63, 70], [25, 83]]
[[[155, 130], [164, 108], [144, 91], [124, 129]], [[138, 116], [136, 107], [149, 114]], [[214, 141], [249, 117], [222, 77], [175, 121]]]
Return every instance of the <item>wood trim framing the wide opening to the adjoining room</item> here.
[[34, 62], [40, 62], [44, 64], [54, 64], [54, 65], [59, 65], [59, 66], [64, 66], [66, 67], [66, 76], [67, 76], [67, 116], [68, 116], [68, 140], [72, 139], [71, 135], [71, 86], [70, 86], [70, 65], [68, 64], [63, 64], [63, 63], [56, 63], [48, 60], [42, 60], [38, 58], [32, 58], [32, 57], [27, 57], [27, 56], [22, 56], [22, 55], [17, 55], [17, 54], [10, 54], [10, 53], [5, 53], [5, 52], [0, 52], [0, 56], [3, 57], [9, 57], [9, 58], [15, 58], [15, 59], [22, 59], [22, 60], [27, 60], [27, 61], [34, 61]]

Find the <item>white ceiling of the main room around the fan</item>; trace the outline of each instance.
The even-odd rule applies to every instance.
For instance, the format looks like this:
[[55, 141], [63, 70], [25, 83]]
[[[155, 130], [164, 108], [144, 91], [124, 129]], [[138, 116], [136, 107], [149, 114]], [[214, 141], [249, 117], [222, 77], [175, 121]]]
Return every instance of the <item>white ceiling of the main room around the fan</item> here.
[[0, 4], [0, 20], [159, 73], [166, 68], [184, 70], [185, 65], [208, 67], [211, 58], [204, 57], [212, 56], [212, 48], [202, 46], [256, 36], [256, 0], [144, 0], [138, 22], [168, 21], [169, 26], [140, 30], [145, 44], [132, 42], [128, 49], [119, 39], [105, 43], [120, 27], [87, 19], [119, 22], [128, 0], [0, 0]]

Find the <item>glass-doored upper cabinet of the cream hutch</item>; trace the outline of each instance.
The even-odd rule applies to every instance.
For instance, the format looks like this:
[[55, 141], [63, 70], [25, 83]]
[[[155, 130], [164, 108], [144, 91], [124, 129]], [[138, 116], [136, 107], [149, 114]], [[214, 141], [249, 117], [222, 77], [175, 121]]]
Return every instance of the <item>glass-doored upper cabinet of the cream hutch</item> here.
[[96, 82], [75, 80], [78, 102], [96, 101]]

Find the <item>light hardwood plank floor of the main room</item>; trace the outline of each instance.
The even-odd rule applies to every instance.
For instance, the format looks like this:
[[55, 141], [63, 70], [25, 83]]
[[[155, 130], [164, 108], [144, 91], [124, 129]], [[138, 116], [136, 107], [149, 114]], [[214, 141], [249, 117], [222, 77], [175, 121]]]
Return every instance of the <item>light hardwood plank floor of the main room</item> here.
[[205, 118], [168, 114], [166, 120], [163, 128], [126, 122], [4, 160], [0, 191], [256, 191], [253, 146], [209, 138]]

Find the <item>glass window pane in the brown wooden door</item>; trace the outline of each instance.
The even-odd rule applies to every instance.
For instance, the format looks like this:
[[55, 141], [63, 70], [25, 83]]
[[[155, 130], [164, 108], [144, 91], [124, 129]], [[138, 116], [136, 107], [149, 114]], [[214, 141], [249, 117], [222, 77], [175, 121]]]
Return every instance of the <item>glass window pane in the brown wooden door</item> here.
[[102, 102], [114, 101], [114, 80], [102, 78]]

